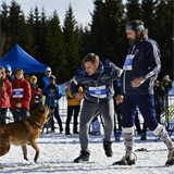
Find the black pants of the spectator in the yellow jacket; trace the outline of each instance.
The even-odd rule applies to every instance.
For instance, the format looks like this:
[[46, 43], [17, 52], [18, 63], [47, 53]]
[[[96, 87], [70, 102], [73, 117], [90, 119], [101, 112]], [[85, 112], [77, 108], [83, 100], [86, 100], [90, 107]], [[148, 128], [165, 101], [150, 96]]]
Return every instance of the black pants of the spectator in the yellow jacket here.
[[77, 132], [77, 117], [78, 117], [78, 113], [79, 113], [79, 108], [80, 105], [67, 105], [67, 119], [66, 119], [66, 128], [65, 132], [70, 133], [70, 122], [72, 120], [72, 115], [74, 112], [74, 125], [73, 125], [73, 132]]

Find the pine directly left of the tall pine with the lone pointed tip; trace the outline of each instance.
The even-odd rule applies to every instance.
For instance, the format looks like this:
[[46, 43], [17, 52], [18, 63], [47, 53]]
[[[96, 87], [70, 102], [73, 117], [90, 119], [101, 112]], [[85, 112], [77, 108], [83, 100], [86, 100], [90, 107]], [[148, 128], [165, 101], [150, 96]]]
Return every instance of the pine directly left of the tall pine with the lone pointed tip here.
[[46, 55], [47, 62], [49, 62], [52, 67], [58, 83], [63, 83], [69, 74], [67, 69], [65, 67], [64, 38], [57, 11], [53, 12], [53, 16], [48, 23], [46, 33]]

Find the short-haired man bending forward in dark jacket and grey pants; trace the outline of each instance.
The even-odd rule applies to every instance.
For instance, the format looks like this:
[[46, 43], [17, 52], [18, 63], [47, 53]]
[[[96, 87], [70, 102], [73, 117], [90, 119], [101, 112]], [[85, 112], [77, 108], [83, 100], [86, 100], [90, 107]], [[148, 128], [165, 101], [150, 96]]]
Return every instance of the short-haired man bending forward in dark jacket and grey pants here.
[[[107, 59], [100, 59], [95, 53], [88, 53], [78, 67], [71, 94], [76, 99], [84, 98], [79, 122], [80, 154], [74, 162], [88, 161], [88, 132], [92, 115], [99, 111], [104, 119], [103, 148], [107, 157], [112, 157], [111, 135], [113, 130], [113, 80], [120, 78], [122, 70]], [[83, 88], [83, 92], [78, 88]]]

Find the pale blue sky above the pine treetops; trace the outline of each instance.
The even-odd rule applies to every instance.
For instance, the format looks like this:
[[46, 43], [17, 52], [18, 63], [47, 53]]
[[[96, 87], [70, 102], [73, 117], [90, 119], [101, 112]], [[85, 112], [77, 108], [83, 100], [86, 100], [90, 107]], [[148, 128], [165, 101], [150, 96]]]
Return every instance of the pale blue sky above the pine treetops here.
[[[86, 26], [87, 23], [90, 23], [91, 16], [90, 12], [94, 11], [92, 0], [15, 0], [20, 5], [21, 10], [24, 11], [24, 14], [27, 16], [30, 9], [35, 9], [37, 5], [39, 12], [44, 8], [46, 15], [51, 15], [54, 10], [57, 10], [61, 24], [63, 24], [65, 11], [67, 11], [69, 5], [73, 8], [73, 13], [75, 20], [78, 24]], [[125, 1], [125, 0], [123, 0]], [[2, 2], [2, 0], [1, 0]], [[11, 4], [11, 0], [5, 0], [7, 4]], [[0, 3], [1, 4], [1, 3]]]

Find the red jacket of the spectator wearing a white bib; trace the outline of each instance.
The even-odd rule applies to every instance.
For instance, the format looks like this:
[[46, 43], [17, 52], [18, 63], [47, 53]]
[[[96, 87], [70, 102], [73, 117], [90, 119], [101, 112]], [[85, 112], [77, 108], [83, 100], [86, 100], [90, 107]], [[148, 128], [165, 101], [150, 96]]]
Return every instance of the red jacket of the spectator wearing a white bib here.
[[[16, 110], [16, 103], [20, 101], [22, 103], [22, 108], [25, 110], [29, 110], [29, 101], [32, 97], [32, 91], [30, 91], [30, 84], [22, 78], [20, 82], [14, 80], [12, 83], [12, 88], [13, 88], [13, 96], [11, 97], [11, 108], [10, 110], [14, 111]], [[14, 89], [23, 89], [23, 97], [22, 98], [15, 98], [15, 92]]]

